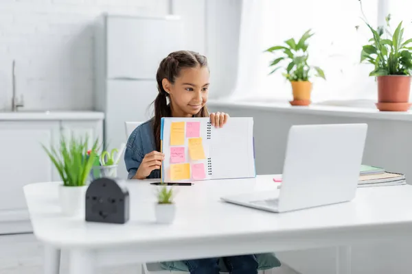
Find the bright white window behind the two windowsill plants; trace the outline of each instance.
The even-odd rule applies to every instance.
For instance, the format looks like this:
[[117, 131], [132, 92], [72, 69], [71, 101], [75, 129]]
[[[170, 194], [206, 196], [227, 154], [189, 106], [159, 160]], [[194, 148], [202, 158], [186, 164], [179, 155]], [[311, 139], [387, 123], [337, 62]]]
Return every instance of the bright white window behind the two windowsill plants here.
[[[387, 1], [400, 17], [411, 22], [404, 0]], [[362, 46], [371, 38], [362, 18], [365, 16], [376, 27], [378, 12], [385, 12], [385, 7], [379, 6], [382, 3], [385, 1], [363, 0], [362, 12], [358, 0], [243, 1], [238, 81], [233, 98], [290, 99], [291, 87], [282, 75], [284, 70], [268, 75], [271, 71], [268, 64], [275, 55], [263, 51], [292, 37], [298, 40], [306, 30], [312, 29], [314, 36], [308, 40], [308, 63], [321, 67], [326, 76], [326, 80], [310, 79], [312, 100], [376, 100], [376, 81], [369, 77], [373, 66], [359, 64], [359, 61]], [[412, 4], [408, 5], [412, 8]], [[395, 18], [393, 16], [393, 24], [398, 22]], [[405, 38], [412, 37], [407, 33], [412, 34], [412, 27], [405, 32]], [[282, 66], [287, 64], [282, 63]]]

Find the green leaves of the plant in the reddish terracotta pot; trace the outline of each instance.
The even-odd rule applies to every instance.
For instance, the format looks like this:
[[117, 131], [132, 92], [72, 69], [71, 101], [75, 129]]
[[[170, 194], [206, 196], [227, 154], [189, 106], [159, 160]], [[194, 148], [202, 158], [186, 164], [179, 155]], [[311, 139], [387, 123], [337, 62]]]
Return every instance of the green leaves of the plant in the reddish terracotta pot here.
[[391, 34], [389, 21], [391, 14], [386, 17], [386, 26], [374, 29], [365, 21], [372, 32], [373, 38], [369, 45], [364, 45], [361, 52], [361, 62], [369, 62], [374, 65], [374, 70], [369, 76], [382, 75], [411, 75], [412, 71], [412, 47], [408, 45], [412, 39], [403, 41], [404, 29], [402, 21]]

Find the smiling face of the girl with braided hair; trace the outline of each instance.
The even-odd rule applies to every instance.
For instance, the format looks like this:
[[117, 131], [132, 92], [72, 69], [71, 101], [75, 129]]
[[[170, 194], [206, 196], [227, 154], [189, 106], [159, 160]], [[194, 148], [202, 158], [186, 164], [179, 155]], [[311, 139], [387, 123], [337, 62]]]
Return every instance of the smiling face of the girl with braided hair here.
[[163, 79], [163, 88], [170, 95], [172, 116], [191, 117], [206, 104], [209, 69], [205, 66], [182, 69], [174, 84]]

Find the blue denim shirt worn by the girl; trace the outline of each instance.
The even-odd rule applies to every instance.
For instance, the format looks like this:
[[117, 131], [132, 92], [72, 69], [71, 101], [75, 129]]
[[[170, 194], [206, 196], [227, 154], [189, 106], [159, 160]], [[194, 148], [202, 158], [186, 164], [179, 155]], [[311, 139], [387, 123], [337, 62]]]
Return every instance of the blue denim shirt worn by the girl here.
[[[127, 140], [126, 151], [124, 151], [124, 162], [126, 163], [126, 169], [128, 171], [128, 179], [132, 179], [133, 176], [135, 176], [144, 155], [156, 150], [155, 134], [153, 134], [152, 123], [153, 120], [150, 119], [139, 125], [139, 127], [136, 127]], [[152, 171], [147, 178], [160, 178], [159, 169]]]

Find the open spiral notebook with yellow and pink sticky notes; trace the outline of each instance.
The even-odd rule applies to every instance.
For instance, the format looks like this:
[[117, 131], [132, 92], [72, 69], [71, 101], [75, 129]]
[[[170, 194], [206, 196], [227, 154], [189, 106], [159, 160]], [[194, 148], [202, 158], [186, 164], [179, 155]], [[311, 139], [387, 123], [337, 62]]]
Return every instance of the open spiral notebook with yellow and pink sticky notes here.
[[222, 128], [209, 118], [161, 119], [162, 182], [255, 177], [253, 118], [231, 117]]

